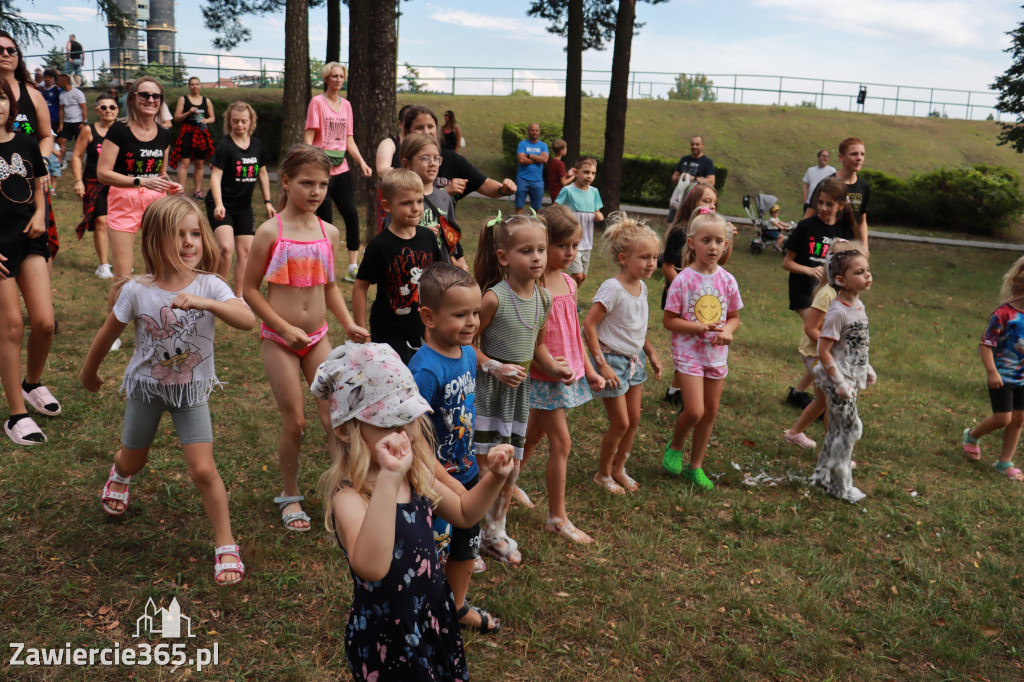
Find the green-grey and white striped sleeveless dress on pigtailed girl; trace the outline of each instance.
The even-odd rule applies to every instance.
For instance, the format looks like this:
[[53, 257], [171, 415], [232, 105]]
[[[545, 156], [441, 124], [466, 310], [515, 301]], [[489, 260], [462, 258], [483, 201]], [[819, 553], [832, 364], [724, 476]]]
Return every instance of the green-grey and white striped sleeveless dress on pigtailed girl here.
[[495, 445], [512, 443], [515, 458], [522, 459], [529, 419], [529, 364], [538, 334], [551, 310], [551, 295], [536, 287], [530, 298], [520, 298], [507, 280], [487, 291], [498, 297], [498, 309], [480, 333], [480, 350], [499, 363], [521, 366], [526, 379], [509, 388], [489, 374], [476, 376], [476, 454], [485, 455]]

